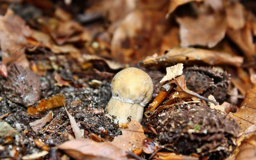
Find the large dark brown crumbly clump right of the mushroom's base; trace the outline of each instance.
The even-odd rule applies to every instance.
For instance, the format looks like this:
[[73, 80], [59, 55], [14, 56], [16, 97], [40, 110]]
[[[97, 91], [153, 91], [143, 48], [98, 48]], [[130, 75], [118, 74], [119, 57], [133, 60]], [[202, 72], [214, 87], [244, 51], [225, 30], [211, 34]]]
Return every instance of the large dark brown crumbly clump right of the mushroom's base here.
[[172, 108], [158, 109], [148, 121], [160, 143], [175, 153], [220, 160], [236, 147], [239, 125], [234, 119], [205, 105], [177, 103]]

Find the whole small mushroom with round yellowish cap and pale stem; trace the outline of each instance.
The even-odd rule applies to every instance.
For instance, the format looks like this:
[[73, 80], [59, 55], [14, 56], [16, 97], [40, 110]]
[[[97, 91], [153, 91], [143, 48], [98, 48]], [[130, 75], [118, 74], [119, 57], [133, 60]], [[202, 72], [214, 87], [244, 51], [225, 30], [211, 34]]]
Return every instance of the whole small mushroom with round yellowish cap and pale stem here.
[[106, 110], [116, 116], [114, 122], [128, 123], [128, 118], [141, 122], [144, 107], [153, 95], [153, 82], [143, 70], [129, 67], [114, 76], [111, 92]]

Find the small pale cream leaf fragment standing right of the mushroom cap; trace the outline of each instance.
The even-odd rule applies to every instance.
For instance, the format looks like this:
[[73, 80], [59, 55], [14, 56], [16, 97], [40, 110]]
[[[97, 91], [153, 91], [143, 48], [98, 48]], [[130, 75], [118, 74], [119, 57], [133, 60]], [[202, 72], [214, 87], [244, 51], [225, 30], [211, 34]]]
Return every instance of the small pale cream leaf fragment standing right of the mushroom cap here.
[[166, 81], [170, 81], [174, 79], [177, 76], [182, 75], [183, 73], [183, 64], [178, 63], [172, 67], [166, 68], [166, 76], [163, 77], [163, 79], [160, 81], [160, 83], [165, 83]]

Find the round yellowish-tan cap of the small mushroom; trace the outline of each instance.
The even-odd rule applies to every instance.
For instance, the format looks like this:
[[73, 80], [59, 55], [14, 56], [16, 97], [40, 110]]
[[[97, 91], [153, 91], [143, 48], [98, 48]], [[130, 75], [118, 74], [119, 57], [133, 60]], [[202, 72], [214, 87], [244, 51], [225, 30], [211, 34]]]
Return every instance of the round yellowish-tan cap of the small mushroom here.
[[153, 82], [143, 70], [129, 67], [114, 76], [111, 91], [114, 99], [144, 107], [153, 95]]

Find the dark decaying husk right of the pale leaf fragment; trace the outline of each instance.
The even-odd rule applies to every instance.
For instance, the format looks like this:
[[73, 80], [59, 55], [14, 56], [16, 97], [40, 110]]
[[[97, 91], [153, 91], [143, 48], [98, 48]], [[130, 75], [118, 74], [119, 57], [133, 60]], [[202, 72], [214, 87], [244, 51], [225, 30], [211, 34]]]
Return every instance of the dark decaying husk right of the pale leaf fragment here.
[[201, 96], [214, 96], [217, 102], [223, 102], [227, 97], [230, 76], [227, 72], [215, 71], [210, 67], [188, 67], [183, 74], [186, 86]]

